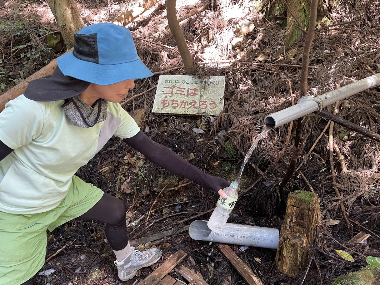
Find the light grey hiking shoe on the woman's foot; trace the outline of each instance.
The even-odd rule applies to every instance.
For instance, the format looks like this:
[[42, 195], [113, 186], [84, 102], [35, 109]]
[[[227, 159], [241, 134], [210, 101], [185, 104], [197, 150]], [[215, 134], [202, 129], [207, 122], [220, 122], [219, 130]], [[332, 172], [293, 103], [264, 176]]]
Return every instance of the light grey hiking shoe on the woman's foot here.
[[143, 267], [155, 264], [161, 257], [162, 251], [157, 247], [149, 250], [139, 251], [132, 247], [132, 252], [122, 261], [115, 261], [117, 265], [117, 276], [122, 281], [135, 277], [136, 272]]

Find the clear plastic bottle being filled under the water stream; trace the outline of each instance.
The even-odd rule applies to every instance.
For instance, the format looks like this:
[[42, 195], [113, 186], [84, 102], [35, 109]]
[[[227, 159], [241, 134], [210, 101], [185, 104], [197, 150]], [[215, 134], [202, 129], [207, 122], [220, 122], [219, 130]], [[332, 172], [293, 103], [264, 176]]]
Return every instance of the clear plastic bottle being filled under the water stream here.
[[237, 186], [239, 183], [232, 181], [231, 185], [224, 188], [226, 198], [219, 197], [216, 208], [207, 222], [207, 227], [215, 233], [220, 233], [226, 225], [228, 216], [232, 212], [237, 200]]

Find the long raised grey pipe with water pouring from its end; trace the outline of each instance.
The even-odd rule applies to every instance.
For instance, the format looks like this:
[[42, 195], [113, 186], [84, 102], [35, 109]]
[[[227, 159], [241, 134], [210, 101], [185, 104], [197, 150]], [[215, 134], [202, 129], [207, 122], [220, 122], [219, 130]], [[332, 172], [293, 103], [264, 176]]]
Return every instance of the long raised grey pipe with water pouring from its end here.
[[268, 127], [277, 128], [378, 84], [380, 84], [380, 73], [347, 84], [314, 98], [304, 96], [298, 100], [296, 105], [265, 117], [264, 123]]

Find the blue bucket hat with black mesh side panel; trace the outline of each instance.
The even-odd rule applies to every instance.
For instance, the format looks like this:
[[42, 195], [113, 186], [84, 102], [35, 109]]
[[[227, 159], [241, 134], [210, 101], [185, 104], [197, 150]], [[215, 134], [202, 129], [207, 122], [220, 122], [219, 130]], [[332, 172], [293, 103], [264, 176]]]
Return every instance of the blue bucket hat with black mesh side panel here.
[[137, 55], [131, 31], [112, 23], [94, 24], [74, 35], [74, 50], [57, 64], [65, 76], [99, 85], [153, 76]]

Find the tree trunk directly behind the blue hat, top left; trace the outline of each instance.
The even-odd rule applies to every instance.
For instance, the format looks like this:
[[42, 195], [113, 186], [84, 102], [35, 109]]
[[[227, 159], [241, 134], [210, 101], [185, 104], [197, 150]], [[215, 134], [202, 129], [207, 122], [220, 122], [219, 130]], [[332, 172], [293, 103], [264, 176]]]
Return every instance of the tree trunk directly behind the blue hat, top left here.
[[67, 49], [74, 46], [74, 34], [84, 27], [75, 0], [47, 0], [47, 4], [57, 21]]

